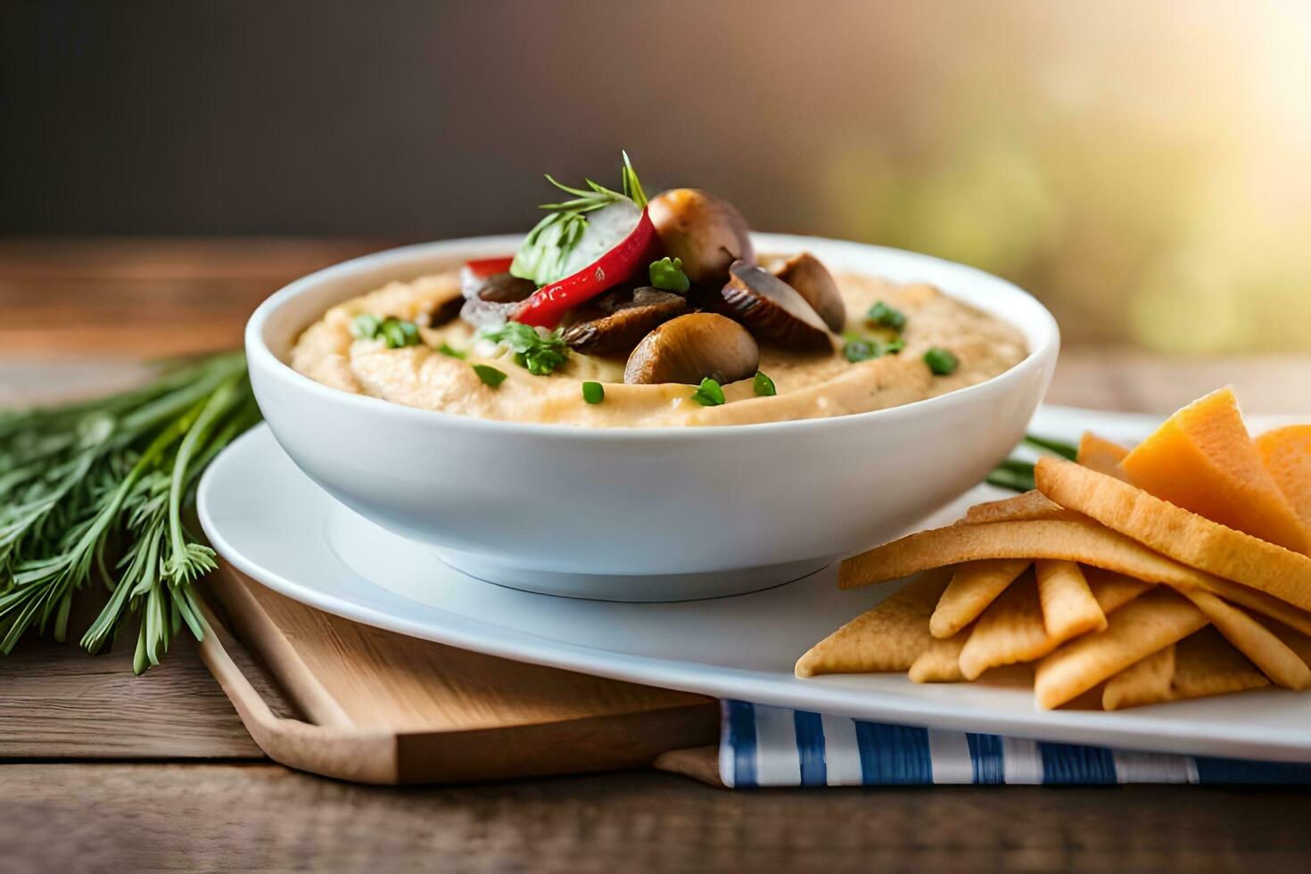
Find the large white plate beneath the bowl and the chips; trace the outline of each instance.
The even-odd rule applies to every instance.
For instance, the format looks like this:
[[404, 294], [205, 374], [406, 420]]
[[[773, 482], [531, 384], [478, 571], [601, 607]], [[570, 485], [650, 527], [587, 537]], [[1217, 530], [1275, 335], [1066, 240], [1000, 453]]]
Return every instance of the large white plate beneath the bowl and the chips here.
[[[1093, 428], [1131, 442], [1152, 423], [1044, 408], [1032, 431], [1074, 439]], [[970, 503], [1002, 494], [979, 486], [907, 529], [949, 522]], [[762, 592], [663, 604], [576, 600], [485, 583], [338, 504], [300, 473], [265, 426], [215, 460], [198, 506], [215, 549], [270, 588], [329, 613], [468, 650], [864, 719], [1311, 761], [1311, 696], [1283, 689], [1100, 713], [1040, 712], [1027, 689], [918, 685], [903, 675], [797, 680], [792, 666], [801, 653], [890, 591], [839, 591], [832, 566]], [[587, 548], [586, 532], [578, 533], [577, 548]]]

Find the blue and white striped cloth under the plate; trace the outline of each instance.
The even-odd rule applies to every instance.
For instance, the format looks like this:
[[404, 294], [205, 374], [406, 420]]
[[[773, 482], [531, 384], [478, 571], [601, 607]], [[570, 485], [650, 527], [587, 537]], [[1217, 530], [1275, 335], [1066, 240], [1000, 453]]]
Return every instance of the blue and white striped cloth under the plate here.
[[1306, 784], [1311, 765], [1126, 752], [722, 702], [726, 786]]

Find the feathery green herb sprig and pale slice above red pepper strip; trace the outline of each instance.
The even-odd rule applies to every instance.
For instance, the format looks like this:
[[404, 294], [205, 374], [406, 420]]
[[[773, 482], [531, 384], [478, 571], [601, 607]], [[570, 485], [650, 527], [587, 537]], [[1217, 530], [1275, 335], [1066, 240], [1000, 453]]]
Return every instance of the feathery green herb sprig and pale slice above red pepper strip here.
[[646, 193], [637, 180], [628, 153], [624, 152], [623, 194], [586, 180], [586, 189], [574, 189], [557, 182], [549, 174], [547, 181], [573, 198], [560, 203], [543, 203], [543, 210], [551, 214], [544, 216], [528, 231], [523, 244], [510, 263], [510, 273], [520, 279], [531, 279], [539, 286], [548, 286], [552, 282], [564, 279], [565, 265], [569, 256], [578, 246], [583, 232], [587, 229], [587, 214], [604, 208], [614, 203], [632, 202], [638, 210], [646, 207]]

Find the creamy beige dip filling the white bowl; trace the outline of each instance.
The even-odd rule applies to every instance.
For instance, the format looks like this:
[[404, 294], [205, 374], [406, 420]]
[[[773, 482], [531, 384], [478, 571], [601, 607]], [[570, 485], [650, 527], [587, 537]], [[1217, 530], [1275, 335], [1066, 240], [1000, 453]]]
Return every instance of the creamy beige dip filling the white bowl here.
[[[623, 358], [569, 355], [549, 376], [534, 376], [507, 352], [460, 318], [426, 326], [427, 314], [460, 296], [456, 273], [393, 282], [329, 309], [291, 350], [291, 366], [305, 376], [357, 394], [459, 415], [514, 422], [586, 425], [594, 427], [746, 425], [867, 413], [982, 383], [1020, 363], [1028, 349], [1020, 332], [987, 313], [948, 297], [927, 284], [893, 284], [852, 274], [835, 274], [847, 304], [847, 330], [891, 339], [865, 322], [865, 311], [882, 300], [906, 314], [901, 334], [906, 347], [895, 355], [852, 363], [834, 337], [832, 354], [797, 352], [760, 343], [760, 371], [777, 394], [756, 397], [750, 379], [724, 387], [721, 406], [691, 400], [695, 387], [625, 385]], [[414, 321], [421, 346], [387, 349], [380, 339], [354, 339], [350, 322], [361, 313]], [[468, 350], [468, 360], [437, 351], [443, 342]], [[935, 376], [923, 360], [939, 346], [960, 360], [948, 376]], [[506, 373], [499, 387], [484, 385], [471, 363]], [[606, 398], [586, 404], [582, 383], [604, 383]]]

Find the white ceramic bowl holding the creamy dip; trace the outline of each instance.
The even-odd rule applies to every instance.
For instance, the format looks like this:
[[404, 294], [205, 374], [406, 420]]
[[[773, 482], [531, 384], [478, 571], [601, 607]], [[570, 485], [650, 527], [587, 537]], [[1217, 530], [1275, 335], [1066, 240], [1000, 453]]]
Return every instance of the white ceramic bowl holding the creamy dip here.
[[475, 577], [615, 600], [751, 591], [880, 542], [978, 484], [1042, 398], [1055, 320], [1011, 283], [927, 256], [755, 235], [830, 267], [926, 280], [1016, 325], [1032, 350], [978, 385], [827, 419], [583, 428], [412, 409], [320, 385], [284, 362], [336, 303], [392, 279], [513, 252], [519, 237], [406, 246], [298, 279], [246, 325], [250, 379], [278, 443], [366, 519]]

